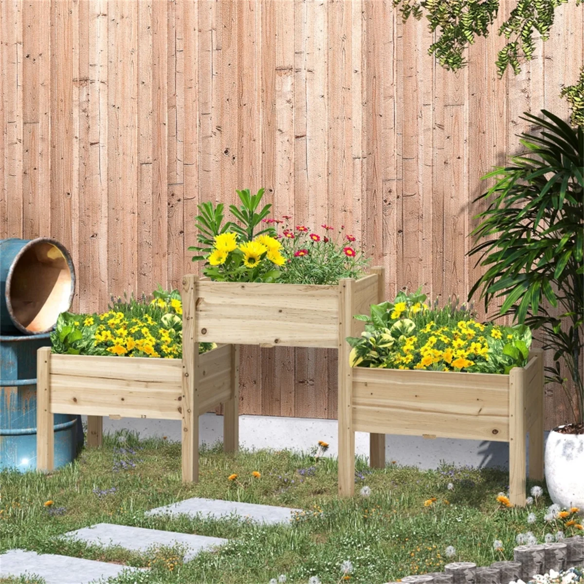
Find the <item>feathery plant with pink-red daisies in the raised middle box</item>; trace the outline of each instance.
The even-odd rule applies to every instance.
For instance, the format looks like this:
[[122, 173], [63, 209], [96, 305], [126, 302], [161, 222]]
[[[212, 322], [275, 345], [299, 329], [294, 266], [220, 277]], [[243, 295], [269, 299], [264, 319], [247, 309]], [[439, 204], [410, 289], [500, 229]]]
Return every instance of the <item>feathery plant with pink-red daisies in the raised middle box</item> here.
[[342, 278], [359, 278], [369, 258], [354, 243], [353, 235], [344, 228], [336, 230], [321, 225], [324, 234], [311, 232], [304, 225], [288, 225], [284, 217], [280, 235], [282, 254], [287, 262], [281, 267], [279, 281], [287, 284], [337, 284]]

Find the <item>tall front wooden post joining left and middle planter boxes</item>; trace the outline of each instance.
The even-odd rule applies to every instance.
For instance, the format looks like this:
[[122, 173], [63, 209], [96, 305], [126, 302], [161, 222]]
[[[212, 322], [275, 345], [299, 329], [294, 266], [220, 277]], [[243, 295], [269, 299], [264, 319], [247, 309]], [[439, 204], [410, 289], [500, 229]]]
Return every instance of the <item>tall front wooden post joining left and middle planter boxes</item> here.
[[194, 341], [197, 276], [183, 277], [182, 479], [199, 481], [199, 343]]

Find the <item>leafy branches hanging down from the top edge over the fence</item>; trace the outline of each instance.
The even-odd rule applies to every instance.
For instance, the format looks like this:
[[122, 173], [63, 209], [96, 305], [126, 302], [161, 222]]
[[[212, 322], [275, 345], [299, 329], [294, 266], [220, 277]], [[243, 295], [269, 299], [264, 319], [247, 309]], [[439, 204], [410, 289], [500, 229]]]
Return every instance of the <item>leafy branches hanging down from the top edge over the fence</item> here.
[[[543, 40], [550, 37], [555, 10], [568, 0], [519, 0], [509, 18], [499, 27], [499, 36], [508, 40], [499, 51], [496, 61], [499, 75], [507, 67], [518, 74], [520, 58], [533, 57], [533, 34]], [[576, 6], [582, 0], [575, 0]], [[486, 37], [501, 6], [500, 0], [394, 0], [402, 18], [420, 19], [426, 13], [432, 32], [440, 29], [440, 36], [430, 46], [429, 54], [436, 55], [442, 67], [457, 71], [465, 65], [464, 51], [473, 44], [475, 36]], [[510, 40], [513, 37], [513, 40]]]

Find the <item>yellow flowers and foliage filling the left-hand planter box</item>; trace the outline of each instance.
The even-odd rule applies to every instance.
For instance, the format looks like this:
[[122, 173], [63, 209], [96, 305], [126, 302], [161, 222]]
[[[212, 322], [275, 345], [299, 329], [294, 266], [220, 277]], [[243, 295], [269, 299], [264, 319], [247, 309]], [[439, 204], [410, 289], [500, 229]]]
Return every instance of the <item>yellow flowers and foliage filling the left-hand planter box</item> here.
[[[155, 290], [146, 301], [113, 301], [102, 314], [62, 312], [51, 333], [53, 353], [182, 358], [182, 303], [178, 290]], [[215, 348], [200, 343], [199, 352]]]

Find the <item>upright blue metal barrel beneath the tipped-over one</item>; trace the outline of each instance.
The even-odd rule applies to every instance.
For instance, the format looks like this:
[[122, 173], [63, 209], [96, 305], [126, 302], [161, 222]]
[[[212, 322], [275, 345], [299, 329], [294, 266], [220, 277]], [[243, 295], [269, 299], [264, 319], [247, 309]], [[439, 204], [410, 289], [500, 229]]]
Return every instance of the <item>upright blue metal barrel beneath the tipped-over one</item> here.
[[[36, 469], [36, 352], [50, 335], [0, 336], [0, 470]], [[81, 420], [54, 415], [55, 468], [77, 453]]]

